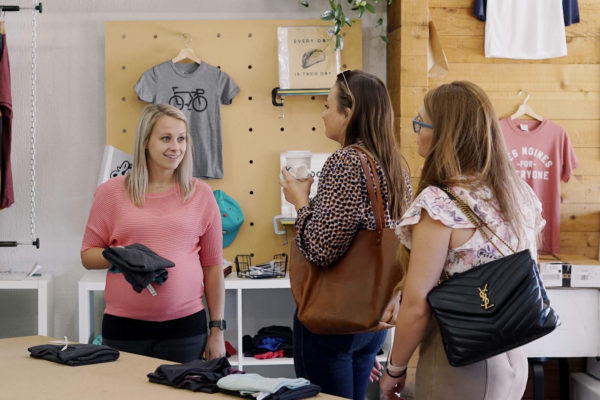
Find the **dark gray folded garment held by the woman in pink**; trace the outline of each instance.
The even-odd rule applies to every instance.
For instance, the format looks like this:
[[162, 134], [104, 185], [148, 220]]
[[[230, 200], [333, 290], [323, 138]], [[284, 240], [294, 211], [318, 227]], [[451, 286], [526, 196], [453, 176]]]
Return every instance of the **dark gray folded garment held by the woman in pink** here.
[[125, 247], [107, 247], [102, 255], [116, 267], [133, 290], [140, 293], [149, 283], [159, 284], [167, 280], [165, 268], [174, 267], [173, 261], [167, 260], [140, 243]]

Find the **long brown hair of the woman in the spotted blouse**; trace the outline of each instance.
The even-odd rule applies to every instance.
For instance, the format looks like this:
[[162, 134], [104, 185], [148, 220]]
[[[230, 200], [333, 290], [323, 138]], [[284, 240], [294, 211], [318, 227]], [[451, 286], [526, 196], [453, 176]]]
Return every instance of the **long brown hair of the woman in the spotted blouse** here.
[[344, 146], [362, 141], [383, 169], [390, 195], [390, 216], [399, 219], [406, 208], [408, 166], [400, 154], [394, 134], [394, 111], [384, 83], [375, 75], [361, 70], [338, 75], [338, 107], [350, 109]]

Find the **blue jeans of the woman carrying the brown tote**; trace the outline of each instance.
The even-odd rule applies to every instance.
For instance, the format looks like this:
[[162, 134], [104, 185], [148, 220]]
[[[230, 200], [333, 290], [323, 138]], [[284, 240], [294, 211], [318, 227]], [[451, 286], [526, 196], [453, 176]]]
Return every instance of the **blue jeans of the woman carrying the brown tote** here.
[[375, 356], [387, 331], [317, 335], [294, 313], [294, 369], [323, 393], [364, 400]]

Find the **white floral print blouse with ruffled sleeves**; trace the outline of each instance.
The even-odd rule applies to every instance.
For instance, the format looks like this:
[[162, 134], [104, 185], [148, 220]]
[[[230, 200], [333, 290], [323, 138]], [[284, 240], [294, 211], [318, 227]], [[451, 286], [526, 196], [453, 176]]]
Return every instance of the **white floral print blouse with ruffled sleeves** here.
[[[519, 202], [523, 214], [527, 217], [524, 229], [527, 232], [527, 237], [521, 238], [520, 241], [500, 214], [498, 203], [492, 198], [492, 191], [488, 187], [482, 185], [477, 189], [466, 189], [460, 186], [451, 186], [450, 189], [513, 249], [516, 251], [529, 249], [533, 259], [537, 258], [536, 237], [546, 221], [541, 215], [542, 205], [540, 201], [527, 184], [523, 182], [524, 198], [520, 199]], [[421, 219], [422, 210], [425, 210], [432, 219], [440, 221], [447, 227], [453, 229], [475, 228], [446, 192], [436, 186], [428, 186], [419, 193], [402, 216], [400, 224], [396, 227], [396, 234], [400, 242], [409, 249], [411, 247], [412, 226]], [[486, 233], [504, 255], [512, 253], [487, 229]], [[476, 230], [465, 243], [448, 250], [444, 269], [451, 276], [502, 256], [487, 238], [479, 230]]]

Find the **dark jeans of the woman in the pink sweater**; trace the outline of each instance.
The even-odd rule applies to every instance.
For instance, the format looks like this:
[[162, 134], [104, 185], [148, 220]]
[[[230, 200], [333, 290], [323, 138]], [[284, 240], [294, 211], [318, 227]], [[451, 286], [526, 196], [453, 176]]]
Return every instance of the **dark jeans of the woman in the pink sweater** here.
[[128, 353], [185, 363], [202, 359], [207, 335], [176, 339], [114, 340], [102, 338], [102, 344]]

